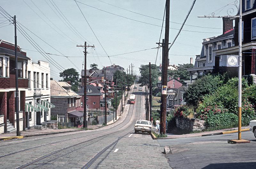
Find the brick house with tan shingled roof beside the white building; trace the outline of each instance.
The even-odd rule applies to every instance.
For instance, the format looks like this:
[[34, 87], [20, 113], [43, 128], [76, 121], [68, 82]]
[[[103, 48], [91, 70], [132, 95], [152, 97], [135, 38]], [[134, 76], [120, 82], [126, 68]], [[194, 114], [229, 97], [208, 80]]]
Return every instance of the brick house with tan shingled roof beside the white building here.
[[56, 116], [59, 122], [82, 122], [83, 112], [76, 110], [81, 107], [81, 96], [70, 89], [67, 82], [51, 80], [51, 116]]

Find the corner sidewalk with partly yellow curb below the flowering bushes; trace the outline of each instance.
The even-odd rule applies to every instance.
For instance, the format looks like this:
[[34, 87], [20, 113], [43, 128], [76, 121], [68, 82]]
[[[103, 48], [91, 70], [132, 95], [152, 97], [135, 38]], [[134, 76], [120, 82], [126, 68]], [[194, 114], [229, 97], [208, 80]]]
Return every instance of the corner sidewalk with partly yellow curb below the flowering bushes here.
[[[250, 127], [242, 127], [242, 131], [249, 131], [249, 130], [250, 130]], [[154, 128], [153, 131], [156, 132], [156, 129]], [[213, 136], [213, 135], [230, 134], [230, 133], [236, 133], [236, 132], [237, 132], [237, 128], [230, 128], [230, 129], [221, 129], [221, 130], [183, 134], [183, 135], [174, 135], [174, 134], [166, 133], [167, 137], [165, 138], [156, 138], [153, 134], [151, 134], [151, 136], [155, 140], [155, 139], [175, 139], [175, 138]]]

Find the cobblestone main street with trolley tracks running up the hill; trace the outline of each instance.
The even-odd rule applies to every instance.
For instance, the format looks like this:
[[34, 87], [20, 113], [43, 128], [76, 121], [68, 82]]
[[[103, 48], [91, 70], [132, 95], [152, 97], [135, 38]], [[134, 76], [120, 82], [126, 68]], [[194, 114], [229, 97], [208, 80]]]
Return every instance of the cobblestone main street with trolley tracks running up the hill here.
[[170, 168], [161, 147], [148, 134], [135, 134], [145, 118], [144, 92], [133, 91], [115, 123], [96, 130], [0, 142], [0, 168]]

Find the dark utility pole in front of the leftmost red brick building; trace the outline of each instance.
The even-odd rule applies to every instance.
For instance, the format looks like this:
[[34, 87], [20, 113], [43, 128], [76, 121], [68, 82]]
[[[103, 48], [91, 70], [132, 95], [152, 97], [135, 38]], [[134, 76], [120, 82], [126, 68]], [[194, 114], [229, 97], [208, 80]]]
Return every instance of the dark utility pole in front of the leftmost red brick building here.
[[[16, 15], [14, 15], [14, 41], [15, 41], [15, 110], [16, 110], [16, 135], [20, 136], [20, 117], [19, 117], [19, 86], [18, 86], [18, 56], [17, 56], [17, 33]], [[15, 127], [15, 126], [14, 126]]]

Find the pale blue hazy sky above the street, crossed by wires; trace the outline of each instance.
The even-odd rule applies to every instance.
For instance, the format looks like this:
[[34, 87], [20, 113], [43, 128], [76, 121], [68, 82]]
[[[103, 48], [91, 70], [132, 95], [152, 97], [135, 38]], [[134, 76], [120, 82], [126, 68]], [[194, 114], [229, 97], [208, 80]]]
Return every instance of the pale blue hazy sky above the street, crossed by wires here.
[[[169, 43], [177, 35], [192, 3], [193, 0], [171, 0]], [[201, 53], [203, 39], [222, 34], [221, 18], [197, 16], [212, 12], [227, 15], [227, 10], [235, 7], [232, 3], [234, 0], [196, 0], [186, 25], [169, 51], [170, 64], [189, 63], [190, 57], [194, 62], [195, 55]], [[224, 7], [227, 4], [230, 5]], [[50, 63], [51, 77], [55, 80], [60, 80], [59, 72], [64, 69], [75, 68], [79, 74], [84, 69], [84, 48], [76, 47], [84, 45], [84, 41], [95, 46], [87, 48], [87, 69], [96, 63], [100, 69], [116, 64], [126, 70], [132, 63], [138, 75], [140, 65], [161, 62], [156, 42], [164, 39], [164, 28], [161, 37], [160, 33], [165, 0], [1, 0], [0, 6], [11, 16], [16, 15], [18, 27], [25, 26], [27, 29], [23, 29], [44, 52], [54, 54], [49, 56], [59, 65], [51, 58], [48, 60], [56, 65]], [[237, 9], [234, 9], [235, 15]], [[14, 43], [14, 26], [7, 24], [1, 14], [0, 20], [0, 39]], [[49, 56], [44, 57], [19, 31], [17, 43], [32, 61], [49, 62], [45, 58]]]

